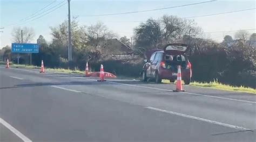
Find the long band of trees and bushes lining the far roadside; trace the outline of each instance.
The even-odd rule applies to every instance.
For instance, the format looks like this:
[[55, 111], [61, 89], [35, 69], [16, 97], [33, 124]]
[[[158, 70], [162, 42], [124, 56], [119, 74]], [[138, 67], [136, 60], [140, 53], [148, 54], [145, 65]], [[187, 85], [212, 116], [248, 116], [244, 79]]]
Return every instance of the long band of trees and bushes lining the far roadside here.
[[[26, 39], [24, 42], [33, 42], [33, 30], [29, 27], [22, 29], [28, 33], [25, 34], [28, 37], [23, 37]], [[73, 18], [71, 29], [72, 61], [67, 60], [68, 22], [64, 21], [50, 27], [50, 42], [43, 35], [37, 38], [40, 51], [32, 54], [32, 65], [40, 66], [41, 60], [44, 60], [46, 68], [64, 68], [70, 70], [58, 70], [80, 73], [72, 70], [84, 70], [86, 61], [89, 61], [92, 71], [99, 70], [100, 64], [103, 64], [106, 72], [137, 78], [146, 51], [163, 49], [167, 43], [179, 42], [190, 46], [187, 54], [192, 64], [192, 81], [213, 82], [218, 79], [218, 82], [230, 86], [256, 88], [256, 33], [237, 31], [233, 37], [226, 35], [223, 41], [216, 42], [202, 38], [204, 31], [193, 19], [172, 15], [149, 18], [140, 23], [134, 28], [133, 42], [130, 37], [119, 37], [101, 22], [81, 25], [77, 18]], [[13, 42], [21, 42], [20, 36], [17, 36], [20, 31], [21, 27], [13, 30]], [[17, 63], [17, 54], [11, 54], [10, 46], [0, 50], [0, 60], [7, 58]], [[20, 63], [28, 64], [29, 54], [21, 54]]]

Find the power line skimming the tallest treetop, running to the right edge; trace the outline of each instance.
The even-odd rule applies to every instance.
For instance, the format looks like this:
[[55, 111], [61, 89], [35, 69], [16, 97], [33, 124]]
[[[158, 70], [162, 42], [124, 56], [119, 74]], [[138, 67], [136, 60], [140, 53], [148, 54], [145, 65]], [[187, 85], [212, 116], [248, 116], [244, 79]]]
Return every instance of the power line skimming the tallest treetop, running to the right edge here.
[[[248, 10], [255, 10], [256, 8], [251, 9], [242, 9], [242, 10], [236, 10], [236, 11], [228, 11], [228, 12], [222, 12], [222, 13], [213, 13], [210, 15], [201, 15], [201, 16], [192, 16], [192, 17], [182, 17], [183, 19], [188, 18], [198, 18], [198, 17], [207, 17], [207, 16], [214, 16], [214, 15], [224, 15], [227, 13], [235, 13], [235, 12], [242, 12], [242, 11], [248, 11]], [[146, 22], [146, 20], [136, 20], [136, 21], [121, 21], [121, 22], [109, 22], [109, 23], [140, 23], [140, 22]]]

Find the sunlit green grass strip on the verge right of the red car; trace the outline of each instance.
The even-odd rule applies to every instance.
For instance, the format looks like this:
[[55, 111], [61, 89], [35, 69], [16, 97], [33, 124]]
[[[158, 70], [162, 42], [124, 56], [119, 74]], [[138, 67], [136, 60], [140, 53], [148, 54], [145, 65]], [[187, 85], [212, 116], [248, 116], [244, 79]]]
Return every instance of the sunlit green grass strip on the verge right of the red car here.
[[[169, 80], [163, 80], [163, 83], [170, 83]], [[238, 91], [242, 93], [252, 93], [256, 94], [256, 89], [250, 88], [250, 87], [244, 87], [244, 86], [231, 86], [228, 84], [223, 84], [218, 82], [218, 80], [214, 80], [211, 82], [197, 82], [193, 81], [190, 83], [190, 86], [197, 86], [197, 87], [205, 87], [205, 88], [213, 88], [213, 89], [219, 89], [219, 90], [226, 90], [226, 91]]]

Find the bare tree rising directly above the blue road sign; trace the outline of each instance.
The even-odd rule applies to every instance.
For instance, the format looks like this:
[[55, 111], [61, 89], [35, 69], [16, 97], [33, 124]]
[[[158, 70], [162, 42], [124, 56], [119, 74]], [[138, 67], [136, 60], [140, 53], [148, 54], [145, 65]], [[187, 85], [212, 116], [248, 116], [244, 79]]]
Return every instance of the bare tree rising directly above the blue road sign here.
[[[22, 33], [21, 33], [22, 31]], [[22, 41], [23, 34], [23, 41]], [[27, 43], [35, 37], [34, 30], [30, 27], [16, 27], [12, 30], [12, 40], [16, 43]]]

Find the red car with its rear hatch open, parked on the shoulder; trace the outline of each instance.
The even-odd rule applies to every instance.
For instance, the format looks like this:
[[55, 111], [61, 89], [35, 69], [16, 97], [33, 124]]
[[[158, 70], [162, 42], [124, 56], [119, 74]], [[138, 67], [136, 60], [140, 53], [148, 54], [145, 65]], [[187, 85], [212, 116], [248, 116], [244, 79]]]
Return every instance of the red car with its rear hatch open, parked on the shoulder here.
[[191, 63], [188, 61], [185, 44], [167, 44], [164, 50], [153, 52], [142, 69], [142, 80], [154, 79], [160, 83], [162, 79], [174, 82], [177, 79], [178, 65], [181, 66], [181, 79], [185, 84], [191, 81]]

